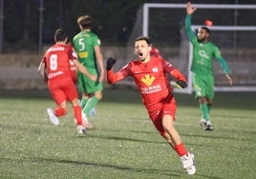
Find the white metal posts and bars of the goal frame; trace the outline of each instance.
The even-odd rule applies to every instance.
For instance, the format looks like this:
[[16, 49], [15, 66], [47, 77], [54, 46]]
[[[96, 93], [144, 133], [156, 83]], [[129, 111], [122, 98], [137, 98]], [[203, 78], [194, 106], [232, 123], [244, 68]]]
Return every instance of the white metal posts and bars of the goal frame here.
[[[256, 10], [256, 5], [230, 5], [230, 4], [193, 4], [194, 8], [200, 9], [233, 9], [233, 10]], [[158, 4], [158, 3], [145, 3], [143, 5], [142, 16], [142, 35], [148, 36], [149, 30], [149, 10], [150, 9], [185, 9], [185, 4]], [[196, 30], [200, 25], [193, 25], [192, 29]], [[211, 30], [255, 30], [256, 26], [212, 26]], [[192, 63], [192, 45], [189, 45], [189, 61], [188, 61], [188, 86], [186, 89], [178, 89], [175, 91], [181, 93], [192, 93], [192, 72], [190, 66]], [[256, 91], [256, 87], [215, 87], [215, 91]]]

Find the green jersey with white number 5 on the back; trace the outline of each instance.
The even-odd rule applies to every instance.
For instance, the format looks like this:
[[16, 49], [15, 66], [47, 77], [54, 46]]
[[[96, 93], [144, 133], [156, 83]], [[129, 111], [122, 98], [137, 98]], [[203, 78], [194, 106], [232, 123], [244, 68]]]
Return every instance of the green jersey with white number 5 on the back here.
[[96, 56], [94, 48], [100, 46], [100, 40], [91, 30], [82, 30], [73, 39], [78, 61], [88, 70], [96, 69]]

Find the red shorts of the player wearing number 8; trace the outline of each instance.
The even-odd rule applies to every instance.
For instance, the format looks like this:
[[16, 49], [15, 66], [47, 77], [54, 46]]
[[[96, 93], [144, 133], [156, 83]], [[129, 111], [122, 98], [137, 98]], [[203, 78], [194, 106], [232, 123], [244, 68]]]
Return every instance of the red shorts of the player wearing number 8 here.
[[48, 88], [57, 105], [66, 100], [73, 101], [78, 96], [74, 81], [70, 76], [49, 80]]

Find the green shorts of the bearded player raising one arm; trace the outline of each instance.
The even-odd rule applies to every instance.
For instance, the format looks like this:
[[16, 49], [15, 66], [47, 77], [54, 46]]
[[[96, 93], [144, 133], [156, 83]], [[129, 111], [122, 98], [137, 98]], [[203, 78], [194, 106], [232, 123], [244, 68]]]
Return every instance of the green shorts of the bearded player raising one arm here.
[[214, 76], [193, 74], [193, 86], [195, 91], [195, 98], [205, 96], [208, 99], [214, 97]]

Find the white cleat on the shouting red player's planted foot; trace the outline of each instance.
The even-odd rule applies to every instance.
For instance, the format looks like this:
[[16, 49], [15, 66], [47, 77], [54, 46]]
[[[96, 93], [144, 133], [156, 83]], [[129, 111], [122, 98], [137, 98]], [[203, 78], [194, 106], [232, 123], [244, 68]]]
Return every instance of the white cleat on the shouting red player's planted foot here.
[[181, 156], [181, 163], [183, 165], [183, 169], [186, 170], [187, 174], [192, 175], [196, 173], [193, 153], [187, 153], [186, 155]]

